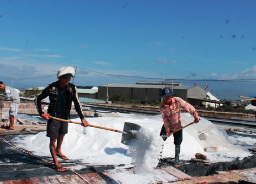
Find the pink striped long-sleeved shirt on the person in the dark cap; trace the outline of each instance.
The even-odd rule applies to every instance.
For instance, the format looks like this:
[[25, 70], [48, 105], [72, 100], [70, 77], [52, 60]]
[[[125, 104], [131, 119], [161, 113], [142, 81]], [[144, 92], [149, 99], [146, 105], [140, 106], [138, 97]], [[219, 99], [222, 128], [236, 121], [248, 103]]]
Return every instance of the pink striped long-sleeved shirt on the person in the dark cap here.
[[164, 100], [160, 104], [159, 110], [163, 117], [166, 132], [172, 132], [182, 127], [181, 108], [188, 111], [194, 118], [198, 117], [196, 109], [179, 97], [172, 98], [172, 104], [170, 105], [166, 105]]

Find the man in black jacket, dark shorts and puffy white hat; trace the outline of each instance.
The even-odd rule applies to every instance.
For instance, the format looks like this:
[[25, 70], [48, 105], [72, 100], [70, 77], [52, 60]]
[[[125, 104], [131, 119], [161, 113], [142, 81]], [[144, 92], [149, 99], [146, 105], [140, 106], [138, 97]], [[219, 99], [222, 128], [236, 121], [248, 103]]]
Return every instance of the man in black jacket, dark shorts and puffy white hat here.
[[[69, 83], [71, 77], [74, 77], [75, 69], [71, 66], [62, 67], [59, 69], [57, 78], [58, 81], [49, 84], [40, 95], [35, 98], [35, 104], [40, 116], [47, 120], [46, 136], [50, 137], [50, 152], [53, 158], [56, 171], [64, 172], [63, 168], [57, 160], [57, 157], [67, 160], [67, 156], [61, 152], [61, 145], [65, 134], [68, 133], [68, 123], [50, 119], [49, 116], [70, 119], [70, 110], [72, 101], [75, 109], [82, 121], [82, 126], [86, 127], [88, 122], [84, 119], [82, 106], [80, 104], [77, 88], [74, 84]], [[42, 111], [41, 100], [49, 96], [49, 106], [47, 113]], [[56, 145], [57, 141], [57, 145]]]

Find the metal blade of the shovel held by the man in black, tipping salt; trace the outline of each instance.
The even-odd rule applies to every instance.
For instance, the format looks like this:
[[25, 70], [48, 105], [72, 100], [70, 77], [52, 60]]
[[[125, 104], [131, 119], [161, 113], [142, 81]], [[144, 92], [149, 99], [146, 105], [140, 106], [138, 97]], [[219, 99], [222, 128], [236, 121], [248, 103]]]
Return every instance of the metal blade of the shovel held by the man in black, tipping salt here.
[[125, 122], [123, 126], [123, 131], [129, 132], [129, 134], [123, 134], [121, 143], [126, 144], [126, 141], [136, 138], [136, 131], [138, 131], [141, 126], [135, 123]]

